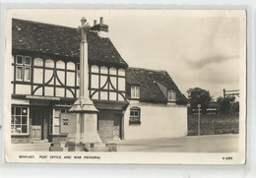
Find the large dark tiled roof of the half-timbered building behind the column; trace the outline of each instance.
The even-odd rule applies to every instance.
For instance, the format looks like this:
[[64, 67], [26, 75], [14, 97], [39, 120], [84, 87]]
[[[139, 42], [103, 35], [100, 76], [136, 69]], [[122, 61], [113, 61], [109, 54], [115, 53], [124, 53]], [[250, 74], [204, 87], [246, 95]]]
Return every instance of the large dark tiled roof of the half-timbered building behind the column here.
[[[79, 60], [81, 34], [77, 29], [13, 19], [14, 50], [25, 50]], [[89, 63], [127, 67], [127, 63], [107, 37], [88, 33]]]

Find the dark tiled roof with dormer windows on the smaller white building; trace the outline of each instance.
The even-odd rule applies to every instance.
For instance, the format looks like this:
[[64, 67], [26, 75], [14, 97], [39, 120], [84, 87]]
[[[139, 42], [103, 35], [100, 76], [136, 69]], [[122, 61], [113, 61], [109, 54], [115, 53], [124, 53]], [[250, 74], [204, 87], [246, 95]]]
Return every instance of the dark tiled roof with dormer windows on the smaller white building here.
[[176, 103], [187, 104], [186, 97], [180, 92], [166, 71], [149, 70], [143, 68], [127, 68], [127, 96], [130, 97], [131, 86], [140, 86], [140, 101], [167, 103], [160, 86], [176, 91]]

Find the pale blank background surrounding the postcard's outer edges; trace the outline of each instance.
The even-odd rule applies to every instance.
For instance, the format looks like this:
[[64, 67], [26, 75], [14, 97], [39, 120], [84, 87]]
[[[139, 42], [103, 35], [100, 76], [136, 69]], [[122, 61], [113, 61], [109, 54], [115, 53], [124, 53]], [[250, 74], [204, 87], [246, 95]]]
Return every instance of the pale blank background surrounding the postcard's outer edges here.
[[[8, 2], [7, 0], [3, 0], [2, 2], [6, 3]], [[13, 1], [9, 1], [9, 2], [13, 2]], [[20, 1], [21, 2], [25, 2], [25, 1]], [[32, 2], [32, 1], [26, 1], [27, 3]], [[43, 1], [43, 2], [49, 2], [49, 1]], [[52, 1], [50, 1], [52, 2]], [[55, 1], [56, 2], [56, 1]], [[60, 2], [60, 1], [57, 1]], [[31, 4], [29, 5], [29, 7], [44, 7], [44, 8], [52, 8], [52, 7], [58, 7], [58, 8], [67, 8], [67, 7], [85, 7], [85, 5], [79, 6], [79, 5], [65, 5], [64, 3], [73, 3], [70, 0], [63, 0], [61, 1], [62, 4], [59, 5], [52, 5], [52, 4]], [[88, 2], [88, 1], [87, 1]], [[95, 3], [97, 2], [101, 2], [102, 1], [95, 1]], [[40, 3], [42, 3], [42, 1], [40, 1]], [[79, 1], [78, 3], [82, 3], [81, 1]], [[92, 3], [92, 2], [91, 2]], [[105, 3], [105, 2], [104, 2]], [[116, 3], [116, 1], [107, 1], [107, 3]], [[119, 2], [117, 2], [119, 3]], [[134, 1], [130, 1], [130, 2], [125, 2], [126, 4], [128, 3], [136, 3]], [[192, 176], [196, 176], [196, 177], [204, 177], [205, 175], [208, 175], [208, 177], [226, 177], [227, 175], [232, 175], [232, 177], [252, 177], [253, 174], [255, 174], [255, 171], [253, 170], [253, 168], [255, 169], [255, 152], [252, 151], [253, 149], [255, 150], [255, 136], [256, 135], [256, 131], [255, 131], [255, 36], [254, 36], [254, 32], [255, 32], [255, 20], [254, 20], [254, 16], [255, 16], [255, 8], [256, 8], [256, 2], [253, 1], [247, 1], [247, 2], [241, 2], [241, 1], [211, 1], [211, 2], [205, 2], [205, 1], [177, 1], [177, 0], [173, 0], [171, 2], [169, 1], [151, 1], [148, 0], [147, 2], [142, 2], [139, 1], [139, 3], [148, 3], [148, 5], [128, 5], [128, 8], [141, 8], [141, 7], [145, 7], [145, 8], [175, 8], [175, 9], [245, 9], [247, 10], [247, 79], [248, 79], [248, 83], [247, 83], [247, 162], [245, 165], [242, 166], [206, 166], [206, 165], [118, 165], [116, 167], [116, 165], [87, 165], [87, 172], [94, 174], [95, 176], [102, 176], [105, 175], [103, 174], [101, 171], [104, 170], [108, 170], [109, 174], [106, 174], [108, 176], [111, 175], [111, 177], [113, 176], [117, 176], [117, 175], [126, 175], [126, 177], [130, 177], [132, 175], [136, 175], [137, 173], [140, 173], [141, 175], [144, 176], [148, 176], [148, 177], [152, 177], [153, 175], [162, 175], [162, 173], [164, 173], [166, 176], [171, 175], [172, 176], [181, 176], [181, 177], [188, 177], [188, 175]], [[168, 5], [149, 5], [149, 4], [156, 4], [156, 3], [161, 3], [161, 4], [168, 4]], [[175, 4], [175, 5], [170, 5], [169, 3]], [[185, 3], [186, 6], [181, 6], [181, 3]], [[240, 5], [240, 4], [243, 5]], [[206, 6], [202, 6], [202, 5], [206, 5]], [[226, 4], [230, 4], [230, 5], [226, 5]], [[195, 5], [195, 6], [188, 6], [188, 5]], [[200, 6], [199, 6], [200, 5]], [[214, 5], [214, 6], [213, 6]], [[224, 6], [220, 6], [220, 5], [224, 5]], [[238, 6], [233, 6], [233, 5], [238, 5]], [[87, 7], [102, 7], [102, 5], [88, 5]], [[23, 4], [23, 5], [19, 5], [19, 4], [12, 4], [12, 5], [4, 5], [1, 6], [1, 49], [0, 49], [0, 55], [1, 55], [1, 59], [3, 59], [3, 53], [4, 53], [4, 48], [3, 48], [3, 44], [4, 44], [4, 19], [5, 17], [3, 16], [3, 11], [7, 8], [7, 7], [12, 7], [12, 8], [17, 8], [17, 7], [28, 7], [27, 4]], [[104, 6], [105, 7], [105, 6]], [[124, 5], [106, 5], [106, 7], [123, 7], [123, 8], [127, 8], [127, 6]], [[1, 69], [3, 69], [3, 61], [0, 61], [0, 66]], [[1, 79], [1, 86], [3, 86], [4, 83], [4, 76], [3, 76], [3, 70], [0, 70], [0, 79]], [[3, 88], [0, 88], [0, 92], [1, 94], [3, 93]], [[3, 119], [3, 97], [1, 97], [1, 119]], [[1, 124], [1, 121], [0, 121]], [[1, 133], [2, 134], [2, 133]], [[3, 138], [3, 136], [2, 136]], [[3, 140], [1, 143], [1, 148], [3, 146]], [[1, 163], [3, 165], [3, 149], [1, 151]], [[2, 166], [1, 165], [1, 166]], [[51, 169], [50, 169], [51, 167]], [[81, 172], [85, 172], [83, 171], [83, 169], [85, 170], [85, 167], [82, 165], [34, 165], [34, 164], [30, 164], [30, 165], [22, 165], [22, 164], [5, 164], [4, 165], [4, 174], [3, 175], [12, 175], [10, 174], [12, 171], [15, 170], [15, 172], [19, 172], [19, 175], [21, 176], [22, 173], [26, 173], [26, 170], [24, 170], [25, 168], [30, 168], [32, 169], [31, 173], [34, 173], [34, 175], [39, 175], [38, 172], [40, 172], [40, 175], [45, 175], [47, 177], [51, 177], [50, 175], [59, 175], [59, 170], [54, 168], [57, 167], [62, 167], [62, 168], [71, 168], [71, 169], [62, 169], [62, 173], [64, 177], [68, 177], [71, 176], [73, 174], [70, 174], [70, 172], [74, 172], [74, 169], [78, 172], [79, 174]], [[140, 170], [138, 170], [138, 167], [140, 168]], [[45, 170], [45, 168], [47, 170]], [[36, 171], [37, 170], [37, 171]], [[40, 171], [39, 171], [40, 170]], [[44, 171], [41, 171], [44, 170]], [[73, 170], [73, 171], [72, 171]], [[127, 172], [128, 170], [132, 170], [129, 171], [129, 173]], [[0, 167], [0, 173], [1, 173], [2, 169]], [[100, 173], [101, 172], [101, 173]], [[121, 173], [121, 174], [120, 174]], [[226, 174], [227, 173], [227, 174]], [[1, 173], [2, 174], [2, 173]], [[76, 175], [79, 175], [76, 174]], [[29, 174], [32, 177], [32, 174]], [[25, 174], [26, 177], [28, 177], [28, 172], [27, 174]]]

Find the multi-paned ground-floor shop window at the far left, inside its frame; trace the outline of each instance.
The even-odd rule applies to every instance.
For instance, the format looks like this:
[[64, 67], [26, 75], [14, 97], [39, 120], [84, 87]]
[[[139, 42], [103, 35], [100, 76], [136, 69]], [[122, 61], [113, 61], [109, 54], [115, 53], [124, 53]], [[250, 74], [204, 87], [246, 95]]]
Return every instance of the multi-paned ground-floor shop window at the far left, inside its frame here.
[[11, 132], [13, 135], [29, 134], [29, 107], [13, 106]]

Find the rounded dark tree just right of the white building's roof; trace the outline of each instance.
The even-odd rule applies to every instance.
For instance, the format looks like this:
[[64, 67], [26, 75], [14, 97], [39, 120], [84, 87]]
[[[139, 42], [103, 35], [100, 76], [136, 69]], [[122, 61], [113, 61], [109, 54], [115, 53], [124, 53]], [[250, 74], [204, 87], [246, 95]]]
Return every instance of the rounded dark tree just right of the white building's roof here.
[[191, 110], [197, 109], [197, 105], [201, 104], [202, 113], [206, 114], [206, 109], [212, 101], [210, 92], [200, 88], [188, 89], [187, 92]]

